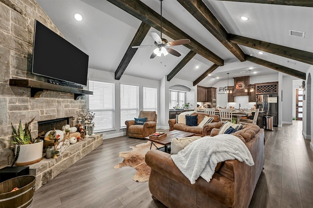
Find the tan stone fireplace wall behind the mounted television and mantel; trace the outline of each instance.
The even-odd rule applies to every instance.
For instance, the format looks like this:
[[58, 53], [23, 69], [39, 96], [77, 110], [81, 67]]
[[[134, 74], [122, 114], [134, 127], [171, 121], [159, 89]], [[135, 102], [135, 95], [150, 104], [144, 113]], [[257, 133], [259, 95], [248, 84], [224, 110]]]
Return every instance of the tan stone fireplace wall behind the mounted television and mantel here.
[[[62, 36], [35, 0], [0, 0], [0, 168], [13, 161], [11, 123], [17, 127], [35, 117], [32, 137], [38, 136], [38, 121], [77, 116], [86, 105], [71, 93], [47, 91], [30, 98], [30, 88], [9, 85], [9, 79], [46, 78], [31, 74], [35, 19]], [[62, 36], [63, 37], [63, 36]], [[4, 139], [4, 140], [3, 140]]]

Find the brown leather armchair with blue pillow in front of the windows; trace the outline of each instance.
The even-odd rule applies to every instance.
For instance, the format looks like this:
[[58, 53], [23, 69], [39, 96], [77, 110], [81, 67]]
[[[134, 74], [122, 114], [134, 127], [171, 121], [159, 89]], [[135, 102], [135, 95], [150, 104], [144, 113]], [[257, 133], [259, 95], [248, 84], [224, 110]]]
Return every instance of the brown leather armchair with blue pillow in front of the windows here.
[[138, 118], [147, 118], [143, 125], [135, 125], [134, 120], [125, 121], [126, 135], [132, 138], [143, 139], [156, 132], [156, 111], [140, 111]]

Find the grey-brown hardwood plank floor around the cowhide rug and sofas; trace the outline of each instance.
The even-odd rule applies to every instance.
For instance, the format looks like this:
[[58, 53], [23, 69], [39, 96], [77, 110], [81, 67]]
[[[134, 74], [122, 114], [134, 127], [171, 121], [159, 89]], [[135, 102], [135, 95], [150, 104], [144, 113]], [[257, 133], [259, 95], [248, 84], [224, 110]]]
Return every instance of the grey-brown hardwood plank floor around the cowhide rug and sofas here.
[[[301, 121], [265, 131], [265, 166], [250, 208], [313, 207], [313, 151], [301, 131]], [[120, 151], [145, 142], [127, 137], [104, 140], [35, 191], [31, 208], [164, 208], [153, 202], [148, 182], [133, 181], [134, 168], [113, 168], [123, 160]]]

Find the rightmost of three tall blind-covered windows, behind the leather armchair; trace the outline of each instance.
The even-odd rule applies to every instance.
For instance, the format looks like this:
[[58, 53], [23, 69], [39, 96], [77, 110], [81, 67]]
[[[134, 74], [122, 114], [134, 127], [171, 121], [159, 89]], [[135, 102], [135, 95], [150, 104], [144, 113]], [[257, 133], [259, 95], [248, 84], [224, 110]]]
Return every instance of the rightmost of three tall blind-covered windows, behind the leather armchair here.
[[157, 89], [143, 87], [143, 110], [156, 111], [157, 114]]

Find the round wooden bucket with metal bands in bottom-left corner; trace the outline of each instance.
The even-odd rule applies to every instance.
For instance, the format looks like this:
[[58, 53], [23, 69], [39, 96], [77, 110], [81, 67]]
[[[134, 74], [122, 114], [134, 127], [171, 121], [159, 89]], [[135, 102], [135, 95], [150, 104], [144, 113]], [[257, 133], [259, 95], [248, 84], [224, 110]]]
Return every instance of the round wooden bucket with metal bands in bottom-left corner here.
[[[0, 208], [29, 208], [33, 202], [36, 177], [25, 175], [0, 183]], [[16, 191], [13, 188], [18, 187]]]

